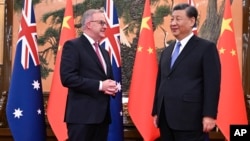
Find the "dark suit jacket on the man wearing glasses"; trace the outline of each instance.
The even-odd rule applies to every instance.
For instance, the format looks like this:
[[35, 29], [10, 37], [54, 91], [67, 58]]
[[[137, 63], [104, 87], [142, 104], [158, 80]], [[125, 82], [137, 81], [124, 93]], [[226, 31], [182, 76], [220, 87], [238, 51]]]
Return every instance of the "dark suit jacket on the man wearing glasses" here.
[[113, 79], [113, 75], [108, 52], [100, 49], [107, 74], [84, 35], [64, 44], [60, 76], [63, 86], [68, 88], [64, 118], [67, 123], [100, 123], [106, 115], [110, 119], [110, 96], [98, 89], [101, 80]]

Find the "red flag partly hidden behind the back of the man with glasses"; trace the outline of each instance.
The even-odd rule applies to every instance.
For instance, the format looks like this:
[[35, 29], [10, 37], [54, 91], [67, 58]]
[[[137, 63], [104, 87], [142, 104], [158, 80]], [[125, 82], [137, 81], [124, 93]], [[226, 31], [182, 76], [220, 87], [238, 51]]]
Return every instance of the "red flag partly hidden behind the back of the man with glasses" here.
[[68, 138], [66, 124], [64, 122], [68, 89], [62, 86], [59, 73], [62, 47], [66, 40], [70, 40], [75, 37], [76, 33], [74, 29], [72, 1], [67, 0], [47, 108], [49, 123], [59, 141], [64, 141]]

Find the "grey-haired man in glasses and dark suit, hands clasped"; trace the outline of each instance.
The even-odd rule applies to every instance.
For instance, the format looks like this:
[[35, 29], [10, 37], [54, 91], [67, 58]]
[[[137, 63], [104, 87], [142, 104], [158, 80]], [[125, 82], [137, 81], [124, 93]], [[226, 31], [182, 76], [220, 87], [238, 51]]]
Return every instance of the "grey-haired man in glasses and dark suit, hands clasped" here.
[[104, 12], [87, 10], [83, 35], [65, 42], [60, 76], [68, 88], [65, 122], [69, 141], [106, 141], [111, 122], [109, 100], [118, 90], [108, 52], [98, 42], [105, 37]]

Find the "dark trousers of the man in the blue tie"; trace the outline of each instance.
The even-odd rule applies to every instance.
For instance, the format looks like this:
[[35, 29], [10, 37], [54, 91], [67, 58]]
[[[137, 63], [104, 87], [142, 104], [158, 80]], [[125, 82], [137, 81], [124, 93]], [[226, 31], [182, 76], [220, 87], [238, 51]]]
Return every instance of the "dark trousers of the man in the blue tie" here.
[[161, 108], [158, 126], [161, 141], [208, 141], [208, 134], [202, 130], [175, 130], [169, 127], [164, 106]]

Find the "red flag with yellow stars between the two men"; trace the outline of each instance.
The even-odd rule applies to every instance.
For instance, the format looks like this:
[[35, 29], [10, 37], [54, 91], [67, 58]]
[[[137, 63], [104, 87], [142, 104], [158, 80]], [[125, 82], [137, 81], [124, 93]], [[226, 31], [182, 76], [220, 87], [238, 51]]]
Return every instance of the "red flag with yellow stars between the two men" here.
[[129, 114], [144, 141], [159, 137], [151, 116], [158, 67], [149, 2], [145, 2], [128, 101]]

